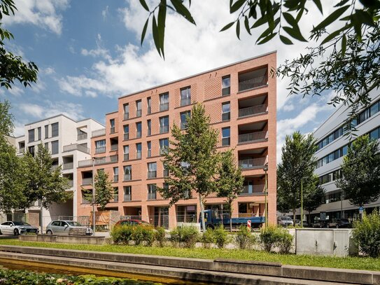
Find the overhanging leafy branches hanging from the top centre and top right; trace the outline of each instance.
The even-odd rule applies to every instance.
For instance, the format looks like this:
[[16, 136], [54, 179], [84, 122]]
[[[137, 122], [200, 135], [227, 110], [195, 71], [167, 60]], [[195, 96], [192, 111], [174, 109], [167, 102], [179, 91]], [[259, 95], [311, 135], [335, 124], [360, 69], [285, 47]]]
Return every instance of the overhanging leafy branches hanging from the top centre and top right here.
[[[254, 35], [252, 32], [255, 30], [263, 30], [259, 36], [255, 36], [257, 44], [267, 43], [276, 36], [286, 45], [293, 44], [293, 41], [314, 42], [313, 48], [308, 48], [298, 58], [286, 61], [277, 71], [272, 70], [272, 74], [290, 78], [290, 94], [321, 95], [325, 90], [335, 90], [337, 93], [331, 103], [351, 105], [350, 120], [361, 105], [370, 103], [368, 92], [380, 85], [380, 1], [357, 2], [231, 0], [230, 13], [236, 15], [236, 20], [226, 23], [220, 32], [235, 25], [238, 39], [241, 29], [246, 29], [250, 35]], [[183, 1], [156, 0], [151, 8], [145, 0], [140, 0], [140, 3], [148, 12], [141, 33], [141, 45], [152, 18], [153, 41], [162, 57], [167, 8], [195, 25]], [[191, 0], [188, 3], [190, 8]], [[315, 22], [314, 13], [308, 13], [309, 10], [318, 8], [323, 15], [326, 6], [333, 6], [328, 9], [331, 13], [321, 22]], [[302, 18], [313, 22], [313, 29], [306, 38], [299, 26]]]

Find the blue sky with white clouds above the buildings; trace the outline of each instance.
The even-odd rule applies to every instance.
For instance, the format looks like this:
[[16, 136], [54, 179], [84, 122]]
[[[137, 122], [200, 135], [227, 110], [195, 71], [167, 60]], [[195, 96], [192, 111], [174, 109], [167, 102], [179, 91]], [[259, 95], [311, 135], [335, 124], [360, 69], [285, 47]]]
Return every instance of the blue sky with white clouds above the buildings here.
[[[147, 2], [153, 6], [157, 0]], [[6, 47], [39, 69], [38, 82], [31, 88], [15, 85], [0, 90], [0, 100], [8, 99], [12, 105], [16, 137], [24, 134], [24, 124], [59, 113], [104, 123], [105, 113], [117, 110], [122, 95], [273, 50], [281, 64], [307, 47], [286, 46], [279, 39], [257, 46], [260, 31], [253, 36], [244, 31], [240, 41], [234, 29], [218, 32], [234, 20], [228, 0], [192, 1], [197, 26], [169, 12], [165, 60], [155, 49], [150, 29], [140, 46], [148, 13], [137, 0], [15, 0], [15, 4], [15, 16], [3, 18], [3, 27], [15, 37]], [[323, 16], [311, 6], [300, 23], [304, 35], [318, 19]], [[286, 134], [313, 132], [335, 111], [327, 104], [329, 94], [289, 97], [287, 86], [286, 78], [277, 78], [278, 160]]]

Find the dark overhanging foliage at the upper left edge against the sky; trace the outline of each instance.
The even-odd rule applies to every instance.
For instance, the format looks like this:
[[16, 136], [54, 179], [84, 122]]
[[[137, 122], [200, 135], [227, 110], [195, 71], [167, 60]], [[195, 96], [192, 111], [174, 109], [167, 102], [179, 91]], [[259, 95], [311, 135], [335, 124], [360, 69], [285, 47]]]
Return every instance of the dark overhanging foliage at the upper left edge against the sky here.
[[6, 41], [13, 39], [7, 29], [1, 27], [3, 16], [15, 15], [17, 10], [13, 0], [0, 2], [0, 86], [12, 88], [15, 81], [27, 87], [37, 81], [38, 68], [34, 62], [24, 62], [20, 56], [13, 55], [6, 50]]

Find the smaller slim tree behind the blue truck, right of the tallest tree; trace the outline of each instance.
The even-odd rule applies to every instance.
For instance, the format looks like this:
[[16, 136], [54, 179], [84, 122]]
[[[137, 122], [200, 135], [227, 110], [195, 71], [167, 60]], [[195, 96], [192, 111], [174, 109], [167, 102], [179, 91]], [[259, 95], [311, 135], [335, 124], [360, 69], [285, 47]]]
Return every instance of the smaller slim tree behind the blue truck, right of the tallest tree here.
[[220, 168], [218, 170], [218, 197], [225, 197], [230, 211], [230, 231], [232, 232], [232, 203], [243, 190], [244, 176], [241, 168], [237, 167], [232, 151], [221, 153]]

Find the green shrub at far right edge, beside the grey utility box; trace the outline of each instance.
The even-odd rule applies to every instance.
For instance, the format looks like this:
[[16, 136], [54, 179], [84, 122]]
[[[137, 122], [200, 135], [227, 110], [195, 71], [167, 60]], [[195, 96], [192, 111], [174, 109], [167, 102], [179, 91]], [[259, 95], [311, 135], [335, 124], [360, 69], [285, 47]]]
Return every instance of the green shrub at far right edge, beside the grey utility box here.
[[353, 223], [353, 239], [360, 251], [371, 257], [380, 256], [380, 216], [377, 210], [363, 214], [362, 221]]

